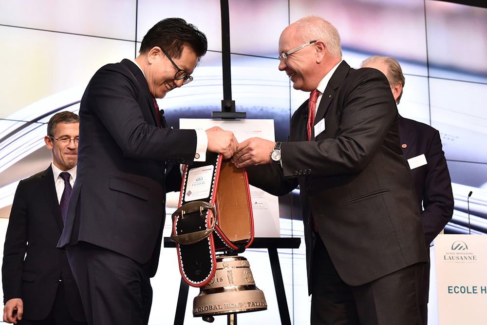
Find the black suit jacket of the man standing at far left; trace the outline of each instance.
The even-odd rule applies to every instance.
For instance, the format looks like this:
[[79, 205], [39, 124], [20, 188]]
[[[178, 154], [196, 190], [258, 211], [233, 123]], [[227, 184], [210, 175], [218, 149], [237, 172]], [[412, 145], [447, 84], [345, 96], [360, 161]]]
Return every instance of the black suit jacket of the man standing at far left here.
[[76, 321], [86, 322], [66, 252], [56, 248], [62, 229], [53, 169], [49, 166], [19, 182], [5, 237], [3, 302], [21, 298], [23, 318], [41, 320], [49, 315], [62, 272], [69, 312]]

